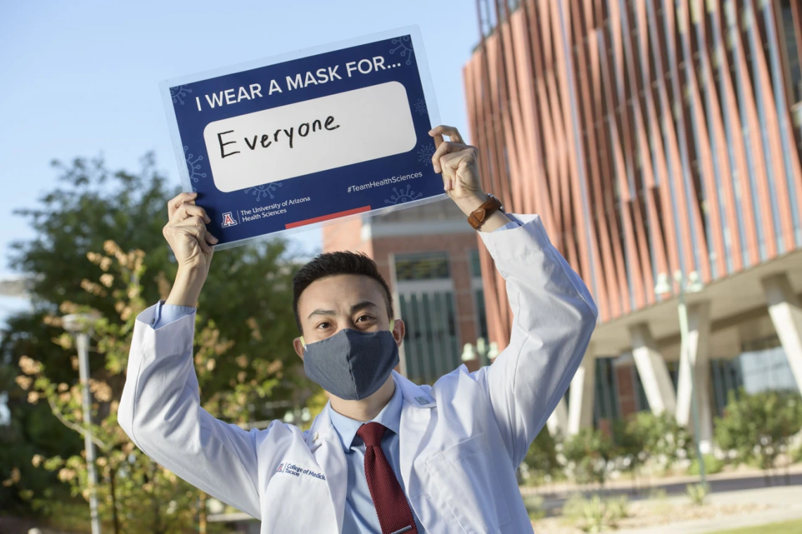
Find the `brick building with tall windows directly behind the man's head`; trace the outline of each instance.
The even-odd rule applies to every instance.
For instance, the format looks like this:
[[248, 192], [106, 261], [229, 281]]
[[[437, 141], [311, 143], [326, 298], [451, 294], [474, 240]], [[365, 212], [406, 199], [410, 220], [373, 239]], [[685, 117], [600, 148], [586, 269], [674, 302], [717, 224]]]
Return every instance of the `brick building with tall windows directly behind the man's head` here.
[[[465, 343], [487, 338], [476, 232], [451, 202], [323, 227], [323, 251], [371, 256], [390, 284], [407, 334], [400, 371], [432, 383], [459, 367]], [[476, 359], [468, 367], [479, 366]]]

